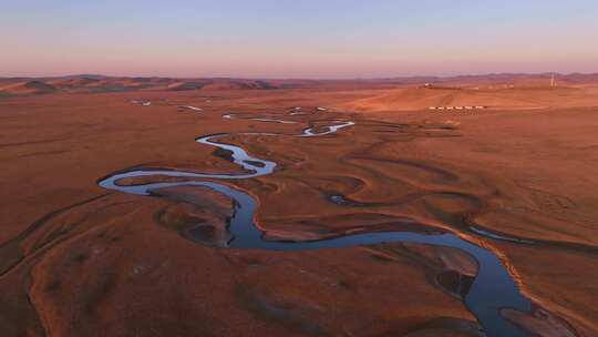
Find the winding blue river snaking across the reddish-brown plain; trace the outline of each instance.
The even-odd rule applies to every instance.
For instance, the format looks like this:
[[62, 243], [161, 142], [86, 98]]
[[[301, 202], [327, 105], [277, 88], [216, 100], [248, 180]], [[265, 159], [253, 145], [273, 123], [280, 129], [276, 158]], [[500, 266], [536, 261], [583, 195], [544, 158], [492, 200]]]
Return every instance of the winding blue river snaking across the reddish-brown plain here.
[[[224, 115], [230, 119], [231, 115]], [[274, 121], [274, 120], [272, 120]], [[313, 137], [330, 135], [344, 127], [354, 125], [351, 121], [332, 121], [322, 127], [308, 127], [302, 130], [297, 137]], [[465, 305], [477, 317], [487, 336], [527, 336], [527, 334], [513, 325], [499, 314], [502, 308], [514, 308], [519, 312], [530, 312], [532, 304], [517, 288], [512, 276], [502, 264], [501, 259], [489, 249], [474, 245], [457, 235], [451, 233], [422, 234], [411, 232], [374, 232], [348, 234], [343, 236], [320, 241], [279, 242], [264, 238], [264, 233], [254, 223], [257, 212], [257, 201], [249, 194], [206, 180], [245, 180], [256, 176], [272, 174], [276, 162], [251, 156], [243, 147], [227, 144], [224, 139], [233, 134], [212, 134], [198, 137], [197, 143], [229, 151], [235, 164], [243, 168], [237, 174], [195, 173], [183, 170], [131, 170], [112, 174], [99, 182], [100, 186], [127, 194], [151, 196], [152, 191], [173, 186], [204, 186], [229, 196], [235, 201], [235, 212], [230, 219], [228, 231], [231, 239], [228, 248], [251, 248], [266, 251], [308, 251], [321, 248], [343, 248], [360, 245], [373, 245], [392, 242], [409, 242], [458, 248], [474, 256], [478, 263], [478, 273], [465, 295]], [[281, 136], [272, 133], [237, 133], [235, 135], [267, 135]], [[182, 182], [153, 182], [138, 185], [120, 185], [123, 178], [144, 176], [185, 177], [194, 181]], [[192, 233], [193, 235], [193, 229]]]

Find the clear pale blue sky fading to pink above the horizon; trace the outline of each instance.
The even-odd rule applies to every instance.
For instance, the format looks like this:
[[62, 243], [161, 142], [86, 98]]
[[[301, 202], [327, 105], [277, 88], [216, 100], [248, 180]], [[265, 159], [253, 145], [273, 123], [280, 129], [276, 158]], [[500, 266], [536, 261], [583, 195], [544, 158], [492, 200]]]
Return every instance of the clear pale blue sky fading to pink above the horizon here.
[[598, 72], [596, 0], [0, 0], [0, 76]]

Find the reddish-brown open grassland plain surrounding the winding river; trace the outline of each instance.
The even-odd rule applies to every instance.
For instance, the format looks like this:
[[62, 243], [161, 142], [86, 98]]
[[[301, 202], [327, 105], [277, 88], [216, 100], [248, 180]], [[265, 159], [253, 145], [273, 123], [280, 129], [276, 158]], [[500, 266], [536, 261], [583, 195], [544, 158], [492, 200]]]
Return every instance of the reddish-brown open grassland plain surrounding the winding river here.
[[[0, 335], [484, 336], [464, 304], [478, 265], [460, 249], [227, 249], [227, 196], [97, 185], [134, 166], [237, 173], [228, 153], [194, 140], [351, 120], [321, 137], [227, 136], [278, 165], [213, 181], [258, 201], [268, 239], [454, 233], [499, 256], [533, 303], [503, 317], [529, 336], [598, 336], [598, 75], [549, 83], [1, 79]], [[484, 109], [429, 109], [471, 105]], [[289, 115], [295, 106], [305, 113]]]

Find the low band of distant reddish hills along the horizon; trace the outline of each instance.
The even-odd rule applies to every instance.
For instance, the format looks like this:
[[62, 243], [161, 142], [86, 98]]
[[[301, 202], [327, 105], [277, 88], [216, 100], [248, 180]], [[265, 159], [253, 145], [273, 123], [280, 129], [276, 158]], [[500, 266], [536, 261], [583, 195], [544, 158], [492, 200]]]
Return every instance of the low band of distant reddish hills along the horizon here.
[[[353, 80], [306, 80], [306, 79], [233, 79], [233, 78], [156, 78], [156, 76], [106, 76], [101, 74], [75, 74], [53, 78], [0, 78], [0, 94], [40, 94], [52, 92], [92, 93], [138, 90], [166, 91], [227, 91], [227, 90], [277, 90], [300, 88], [333, 89], [396, 89], [425, 86], [436, 90], [545, 88], [553, 73], [491, 73], [455, 76], [404, 76], [386, 79]], [[598, 84], [598, 73], [555, 74], [560, 86]], [[405, 93], [408, 96], [410, 93]], [[417, 93], [419, 95], [420, 93]], [[394, 98], [393, 98], [394, 100]], [[426, 101], [422, 96], [422, 103]], [[432, 100], [433, 101], [433, 100]]]

